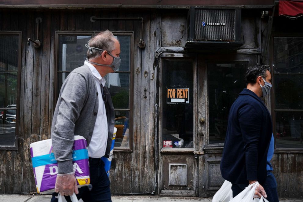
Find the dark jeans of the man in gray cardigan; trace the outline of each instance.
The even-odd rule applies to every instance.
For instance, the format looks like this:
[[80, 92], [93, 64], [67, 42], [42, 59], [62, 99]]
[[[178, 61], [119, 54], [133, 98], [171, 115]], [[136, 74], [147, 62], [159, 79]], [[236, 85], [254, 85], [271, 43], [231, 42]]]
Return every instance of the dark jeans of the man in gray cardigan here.
[[[111, 190], [109, 186], [109, 179], [104, 169], [104, 163], [99, 158], [89, 158], [89, 172], [90, 184], [92, 189], [89, 190], [88, 186], [78, 188], [78, 200], [81, 198], [84, 202], [111, 202]], [[53, 193], [51, 202], [58, 202], [55, 196], [58, 193]], [[71, 202], [70, 197], [66, 196], [65, 199]]]

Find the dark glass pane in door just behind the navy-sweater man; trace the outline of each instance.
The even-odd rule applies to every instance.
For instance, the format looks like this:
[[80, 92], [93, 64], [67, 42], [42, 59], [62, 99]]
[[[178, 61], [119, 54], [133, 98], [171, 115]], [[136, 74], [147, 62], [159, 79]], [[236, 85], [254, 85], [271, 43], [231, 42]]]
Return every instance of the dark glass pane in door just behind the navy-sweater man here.
[[246, 64], [208, 64], [209, 143], [224, 143], [229, 109], [246, 88]]

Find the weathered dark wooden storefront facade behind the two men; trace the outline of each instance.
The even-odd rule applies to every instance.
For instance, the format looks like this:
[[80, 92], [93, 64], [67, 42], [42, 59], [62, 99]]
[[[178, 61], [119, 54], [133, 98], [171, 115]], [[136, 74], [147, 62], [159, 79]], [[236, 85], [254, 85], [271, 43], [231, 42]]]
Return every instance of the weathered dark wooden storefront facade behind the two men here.
[[[71, 5], [68, 1], [64, 5], [41, 5], [39, 1], [25, 5], [25, 1], [17, 2], [5, 1], [0, 7], [0, 36], [11, 34], [20, 37], [19, 69], [11, 71], [17, 72], [20, 77], [16, 84], [16, 103], [9, 103], [9, 98], [5, 98], [5, 104], [0, 106], [5, 111], [9, 110], [6, 105], [17, 104], [14, 126], [16, 145], [0, 148], [0, 193], [36, 192], [29, 144], [50, 138], [59, 81], [62, 74], [68, 73], [59, 62], [63, 58], [62, 44], [75, 40], [60, 39], [61, 36], [87, 39], [108, 29], [117, 36], [129, 37], [129, 47], [126, 49], [129, 51], [129, 69], [118, 73], [128, 75], [129, 83], [126, 86], [129, 102], [126, 107], [115, 107], [121, 114], [122, 111], [128, 113], [125, 117], [129, 120], [129, 139], [125, 147], [120, 145], [115, 148], [110, 174], [111, 192], [148, 194], [155, 191], [155, 194], [161, 195], [210, 197], [224, 181], [219, 165], [224, 146], [227, 108], [231, 105], [223, 94], [211, 98], [213, 89], [236, 96], [239, 91], [228, 91], [233, 88], [228, 87], [232, 85], [228, 79], [235, 77], [232, 82], [237, 83], [236, 79], [243, 79], [241, 76], [246, 67], [262, 60], [272, 65], [275, 82], [275, 37], [300, 38], [303, 33], [302, 26], [296, 26], [302, 23], [303, 19], [300, 18], [294, 21], [274, 14], [271, 23], [269, 18], [274, 10], [272, 1], [256, 1], [253, 5], [250, 1], [229, 1], [228, 6], [211, 1], [204, 2], [204, 5], [199, 5], [199, 1], [190, 1], [186, 6], [169, 1], [163, 1], [163, 5], [146, 1], [137, 6], [132, 1], [126, 5], [119, 5], [119, 1], [108, 1], [104, 5], [97, 5], [94, 1], [79, 2], [77, 5]], [[209, 49], [207, 45], [184, 49], [188, 41], [190, 6], [241, 9], [241, 46], [234, 50], [225, 50], [224, 46]], [[268, 15], [266, 11], [269, 11]], [[105, 19], [94, 20], [93, 17]], [[38, 18], [41, 18], [41, 22], [37, 23]], [[271, 34], [269, 30], [272, 30]], [[27, 46], [28, 38], [39, 39], [42, 46], [35, 48], [32, 42]], [[144, 48], [138, 46], [140, 39], [146, 44]], [[73, 48], [79, 54], [83, 51], [82, 46]], [[302, 55], [300, 51], [298, 54]], [[226, 72], [224, 68], [230, 68], [231, 71]], [[1, 74], [8, 74], [7, 68], [2, 70]], [[222, 72], [223, 77], [220, 76]], [[184, 80], [180, 79], [180, 75]], [[300, 77], [301, 73], [296, 76]], [[181, 86], [176, 83], [178, 79], [183, 82]], [[244, 86], [234, 88], [241, 89]], [[166, 105], [167, 87], [188, 88], [189, 105], [182, 105], [186, 108]], [[303, 92], [302, 88], [298, 88], [298, 91], [301, 94]], [[275, 108], [275, 95], [265, 100], [272, 114], [285, 111]], [[301, 98], [298, 100], [300, 104]], [[216, 111], [215, 105], [220, 106], [220, 113]], [[291, 111], [289, 108], [287, 110], [287, 113]], [[301, 120], [302, 108], [294, 110], [297, 114], [290, 117]], [[121, 114], [117, 118], [124, 117]], [[274, 122], [279, 116], [274, 116]], [[280, 133], [283, 132], [278, 132], [276, 122], [274, 126], [277, 145], [281, 140]], [[163, 141], [168, 141], [168, 145], [164, 145]], [[170, 148], [171, 144], [176, 144], [176, 147]], [[275, 148], [272, 164], [279, 196], [302, 198], [303, 147], [299, 144], [289, 148]]]

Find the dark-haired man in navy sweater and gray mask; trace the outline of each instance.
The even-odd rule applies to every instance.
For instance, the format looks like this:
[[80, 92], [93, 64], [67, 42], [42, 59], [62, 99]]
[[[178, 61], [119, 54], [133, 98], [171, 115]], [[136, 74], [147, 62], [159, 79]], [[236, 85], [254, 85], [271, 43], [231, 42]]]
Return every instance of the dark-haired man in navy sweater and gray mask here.
[[220, 169], [222, 177], [232, 182], [233, 197], [258, 181], [256, 197], [268, 195], [269, 201], [279, 201], [275, 177], [266, 169], [272, 119], [260, 99], [270, 93], [271, 79], [267, 65], [249, 67], [247, 86], [229, 112]]

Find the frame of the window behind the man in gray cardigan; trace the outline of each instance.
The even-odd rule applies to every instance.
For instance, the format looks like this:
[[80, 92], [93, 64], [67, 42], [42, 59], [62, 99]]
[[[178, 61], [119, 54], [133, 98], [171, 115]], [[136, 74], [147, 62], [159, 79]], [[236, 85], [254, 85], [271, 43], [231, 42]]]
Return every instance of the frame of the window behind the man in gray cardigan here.
[[[59, 53], [59, 35], [91, 35], [93, 38], [96, 36], [100, 31], [56, 31], [55, 32], [55, 68], [54, 68], [54, 96], [53, 96], [53, 110], [56, 108], [57, 104], [57, 97], [59, 92], [57, 90], [58, 87], [58, 72], [66, 72], [69, 73], [71, 71], [58, 71], [58, 53]], [[112, 33], [116, 35], [126, 35], [130, 36], [130, 71], [117, 71], [116, 73], [129, 73], [130, 74], [130, 101], [129, 101], [129, 108], [128, 109], [115, 109], [119, 111], [129, 111], [130, 113], [130, 122], [129, 124], [129, 147], [114, 147], [115, 152], [132, 152], [133, 151], [133, 65], [134, 65], [134, 33], [133, 31], [112, 31]], [[84, 61], [83, 61], [84, 62]]]

